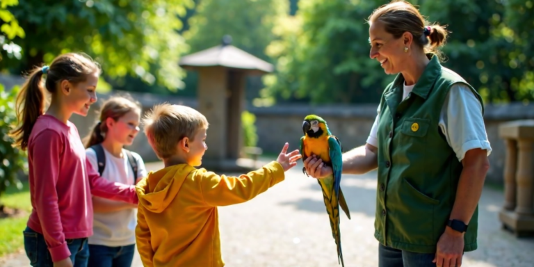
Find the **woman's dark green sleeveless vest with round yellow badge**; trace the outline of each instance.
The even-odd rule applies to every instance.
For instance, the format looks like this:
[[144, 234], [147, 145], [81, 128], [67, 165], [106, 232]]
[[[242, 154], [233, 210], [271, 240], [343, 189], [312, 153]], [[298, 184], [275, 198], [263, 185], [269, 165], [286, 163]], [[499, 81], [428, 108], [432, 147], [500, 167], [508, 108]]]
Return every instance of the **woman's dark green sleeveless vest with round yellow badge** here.
[[[403, 83], [398, 74], [380, 100], [375, 238], [390, 248], [435, 253], [462, 172], [439, 129], [439, 114], [454, 83], [471, 88], [481, 104], [482, 99], [435, 56], [406, 99]], [[468, 225], [464, 251], [477, 247], [478, 207]]]

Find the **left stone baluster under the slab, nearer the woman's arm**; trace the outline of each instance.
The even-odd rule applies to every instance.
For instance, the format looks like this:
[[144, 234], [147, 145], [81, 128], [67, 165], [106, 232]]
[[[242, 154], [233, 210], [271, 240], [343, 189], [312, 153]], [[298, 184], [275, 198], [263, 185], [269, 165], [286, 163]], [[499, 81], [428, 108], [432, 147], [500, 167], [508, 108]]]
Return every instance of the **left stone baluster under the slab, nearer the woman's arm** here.
[[515, 209], [515, 174], [517, 170], [517, 141], [505, 139], [506, 161], [504, 164], [504, 209]]

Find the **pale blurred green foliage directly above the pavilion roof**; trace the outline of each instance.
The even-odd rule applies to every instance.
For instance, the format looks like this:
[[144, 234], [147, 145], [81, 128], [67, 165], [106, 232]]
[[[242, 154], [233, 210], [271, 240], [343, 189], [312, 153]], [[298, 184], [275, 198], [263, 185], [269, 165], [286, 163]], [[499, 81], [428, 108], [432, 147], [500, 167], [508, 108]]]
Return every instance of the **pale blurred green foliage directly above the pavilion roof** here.
[[184, 38], [193, 53], [220, 44], [229, 34], [234, 46], [270, 60], [264, 51], [274, 38], [271, 29], [288, 8], [288, 0], [202, 0]]

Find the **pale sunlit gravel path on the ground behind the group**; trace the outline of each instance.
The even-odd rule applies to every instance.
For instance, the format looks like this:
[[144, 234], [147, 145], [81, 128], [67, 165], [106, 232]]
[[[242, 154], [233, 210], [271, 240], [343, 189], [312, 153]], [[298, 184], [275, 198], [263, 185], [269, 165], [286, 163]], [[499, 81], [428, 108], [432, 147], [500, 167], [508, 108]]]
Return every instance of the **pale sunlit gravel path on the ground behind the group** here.
[[[155, 170], [158, 164], [147, 166]], [[305, 177], [302, 165], [286, 181], [250, 202], [220, 207], [220, 234], [227, 266], [341, 266], [325, 212], [321, 189]], [[352, 220], [341, 214], [345, 266], [378, 266], [373, 237], [375, 172], [344, 175], [341, 188]], [[501, 230], [498, 212], [503, 194], [485, 188], [480, 200], [478, 250], [464, 256], [462, 266], [532, 267], [534, 238], [515, 238]], [[21, 229], [22, 231], [22, 229]], [[0, 266], [29, 266], [23, 252], [0, 259]], [[142, 266], [138, 254], [133, 266]]]

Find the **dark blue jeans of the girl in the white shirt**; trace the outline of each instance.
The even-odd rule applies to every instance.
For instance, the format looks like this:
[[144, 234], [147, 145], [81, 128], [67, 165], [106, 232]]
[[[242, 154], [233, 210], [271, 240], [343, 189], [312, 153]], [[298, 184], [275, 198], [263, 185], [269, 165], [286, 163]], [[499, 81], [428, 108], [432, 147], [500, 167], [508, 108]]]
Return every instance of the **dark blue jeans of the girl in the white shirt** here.
[[135, 244], [122, 247], [89, 245], [89, 266], [130, 267], [135, 250]]

